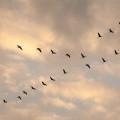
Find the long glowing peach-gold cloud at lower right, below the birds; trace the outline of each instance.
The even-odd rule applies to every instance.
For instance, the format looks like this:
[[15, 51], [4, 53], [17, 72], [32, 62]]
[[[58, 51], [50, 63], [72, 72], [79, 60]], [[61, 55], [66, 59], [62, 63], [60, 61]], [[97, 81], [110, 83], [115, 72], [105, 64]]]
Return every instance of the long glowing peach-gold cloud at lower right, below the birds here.
[[[49, 90], [50, 89], [50, 90]], [[79, 92], [78, 92], [79, 91]], [[114, 98], [119, 98], [117, 90], [109, 86], [93, 81], [81, 80], [80, 82], [63, 82], [51, 85], [44, 89], [44, 94], [60, 95], [73, 100], [92, 100], [95, 103], [107, 104]], [[112, 94], [112, 96], [111, 96]], [[107, 95], [107, 96], [106, 96]]]

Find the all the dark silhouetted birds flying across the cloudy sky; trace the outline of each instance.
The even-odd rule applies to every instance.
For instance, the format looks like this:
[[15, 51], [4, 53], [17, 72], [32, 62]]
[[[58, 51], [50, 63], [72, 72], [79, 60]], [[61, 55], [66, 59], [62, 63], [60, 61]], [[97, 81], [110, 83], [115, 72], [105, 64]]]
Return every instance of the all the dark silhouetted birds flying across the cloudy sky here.
[[[120, 24], [120, 22], [119, 22], [119, 24]], [[110, 33], [114, 33], [114, 31], [113, 31], [112, 29], [109, 29], [109, 32], [110, 32]], [[98, 32], [98, 37], [100, 38], [100, 37], [103, 37], [103, 36]], [[17, 47], [18, 47], [20, 50], [23, 50], [22, 46], [17, 45]], [[41, 48], [37, 48], [37, 50], [38, 50], [40, 53], [42, 53]], [[117, 52], [117, 50], [114, 50], [114, 53], [115, 53], [115, 55], [120, 54], [120, 53]], [[51, 49], [51, 54], [56, 54], [56, 52]], [[68, 54], [68, 53], [66, 53], [66, 56], [67, 56], [68, 58], [71, 58], [70, 54]], [[82, 58], [85, 58], [86, 56], [85, 56], [83, 53], [81, 53], [81, 57], [82, 57]], [[102, 58], [102, 61], [103, 61], [104, 63], [107, 62], [107, 60], [105, 60], [105, 58]], [[91, 68], [91, 66], [90, 66], [89, 64], [86, 64], [86, 66], [87, 66], [89, 69]], [[67, 74], [68, 72], [66, 72], [66, 70], [63, 69], [63, 73], [64, 73], [64, 74]], [[55, 81], [55, 79], [53, 79], [52, 77], [50, 77], [50, 80]], [[42, 85], [47, 86], [47, 84], [44, 83], [43, 81], [42, 81]], [[32, 89], [32, 90], [37, 90], [37, 89], [36, 89], [35, 87], [33, 87], [33, 86], [31, 86], [31, 89]], [[25, 95], [28, 94], [26, 91], [22, 91], [22, 92], [23, 92], [23, 94], [25, 94]], [[21, 96], [17, 96], [17, 98], [18, 98], [19, 100], [22, 100], [22, 97], [21, 97]], [[7, 103], [7, 100], [3, 99], [3, 103]]]

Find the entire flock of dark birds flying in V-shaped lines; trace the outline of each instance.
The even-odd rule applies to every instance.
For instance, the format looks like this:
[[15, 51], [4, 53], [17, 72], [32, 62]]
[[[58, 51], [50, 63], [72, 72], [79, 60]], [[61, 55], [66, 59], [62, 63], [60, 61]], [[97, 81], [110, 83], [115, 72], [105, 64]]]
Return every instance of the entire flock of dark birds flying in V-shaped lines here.
[[[120, 22], [119, 22], [119, 25], [120, 25]], [[110, 32], [110, 33], [114, 33], [114, 31], [113, 31], [111, 28], [109, 28], [109, 32]], [[104, 37], [104, 36], [101, 35], [101, 33], [98, 32], [98, 38], [101, 38], [101, 37]], [[23, 50], [23, 47], [22, 47], [21, 45], [17, 45], [17, 48], [20, 49], [20, 50]], [[40, 53], [42, 53], [41, 48], [37, 48], [36, 50], [39, 51]], [[52, 50], [52, 49], [50, 50], [50, 52], [51, 52], [51, 54], [54, 54], [54, 55], [57, 54], [57, 53], [56, 53], [54, 50]], [[114, 54], [115, 54], [115, 55], [119, 55], [120, 53], [115, 49], [115, 50], [114, 50]], [[70, 53], [66, 53], [65, 56], [68, 57], [68, 58], [71, 58]], [[86, 58], [87, 56], [84, 55], [83, 53], [81, 53], [81, 57], [84, 59], [84, 58]], [[108, 62], [108, 60], [106, 60], [106, 59], [103, 58], [103, 57], [102, 57], [101, 59], [102, 59], [102, 63]], [[91, 65], [90, 65], [90, 64], [86, 63], [85, 66], [88, 67], [88, 69], [91, 69]], [[62, 71], [63, 71], [63, 74], [69, 73], [69, 72], [67, 72], [65, 69], [63, 69]], [[56, 81], [56, 79], [54, 79], [54, 78], [51, 77], [51, 76], [50, 76], [50, 80], [53, 81], [53, 82]], [[43, 86], [46, 86], [46, 87], [47, 87], [47, 83], [45, 83], [44, 81], [42, 81], [41, 83], [42, 83]], [[36, 89], [35, 87], [33, 87], [33, 86], [30, 86], [30, 87], [31, 87], [31, 90], [33, 90], [33, 91], [37, 90], [37, 89]], [[27, 92], [27, 91], [24, 91], [24, 90], [23, 90], [22, 93], [23, 93], [24, 95], [26, 95], [26, 96], [28, 95], [28, 92]], [[19, 95], [18, 95], [16, 98], [19, 99], [19, 100], [22, 100], [22, 97], [19, 96]], [[8, 103], [8, 101], [5, 100], [5, 99], [3, 99], [3, 103]]]

